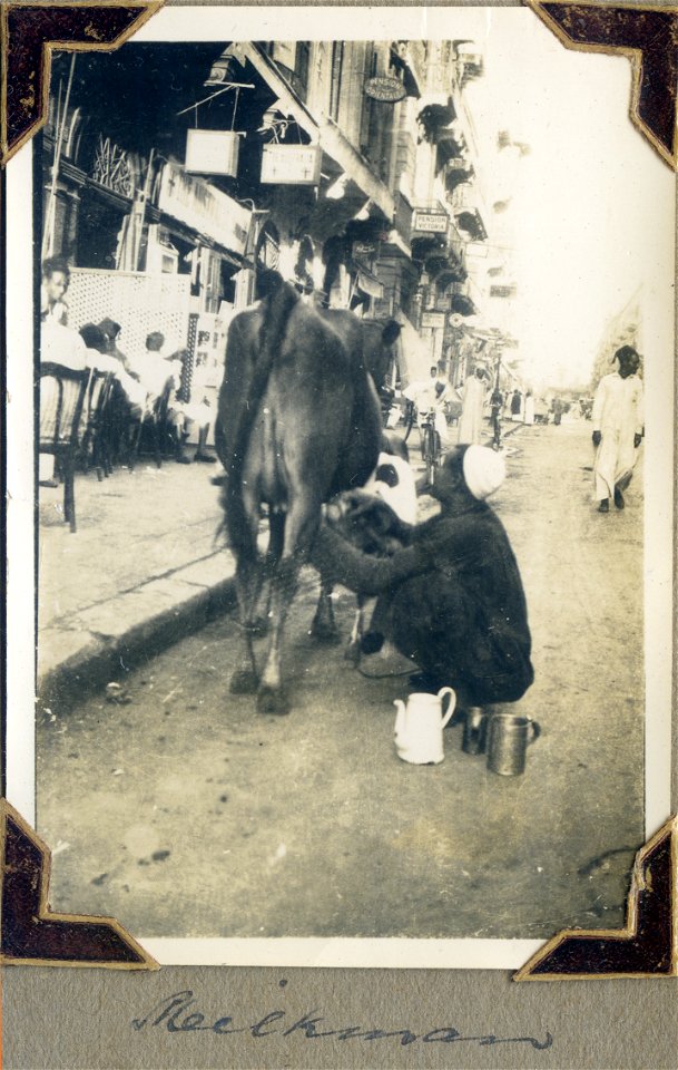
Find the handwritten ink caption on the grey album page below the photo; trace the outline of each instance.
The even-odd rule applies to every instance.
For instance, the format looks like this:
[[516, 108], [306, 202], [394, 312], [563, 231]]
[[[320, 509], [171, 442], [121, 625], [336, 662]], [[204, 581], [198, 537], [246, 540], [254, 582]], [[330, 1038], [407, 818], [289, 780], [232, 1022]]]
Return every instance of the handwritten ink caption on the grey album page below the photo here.
[[[281, 988], [286, 981], [278, 982]], [[410, 1028], [384, 1029], [364, 1025], [338, 1025], [326, 1028], [327, 1018], [320, 1011], [307, 1011], [305, 1014], [291, 1014], [285, 1010], [267, 1011], [249, 1024], [238, 1024], [230, 1015], [215, 1018], [203, 1013], [198, 1000], [191, 989], [174, 992], [161, 999], [155, 1006], [140, 1018], [132, 1019], [134, 1029], [147, 1030], [165, 1029], [168, 1033], [199, 1033], [207, 1032], [217, 1037], [228, 1037], [235, 1033], [249, 1033], [254, 1040], [265, 1040], [273, 1037], [295, 1037], [303, 1040], [333, 1039], [348, 1040], [391, 1040], [401, 1045], [415, 1043], [474, 1043], [481, 1048], [492, 1044], [529, 1044], [535, 1051], [546, 1051], [553, 1044], [551, 1033], [547, 1032], [543, 1040], [537, 1037], [498, 1037], [494, 1033], [479, 1033], [464, 1035], [453, 1025], [436, 1025], [424, 1031], [414, 1032]]]

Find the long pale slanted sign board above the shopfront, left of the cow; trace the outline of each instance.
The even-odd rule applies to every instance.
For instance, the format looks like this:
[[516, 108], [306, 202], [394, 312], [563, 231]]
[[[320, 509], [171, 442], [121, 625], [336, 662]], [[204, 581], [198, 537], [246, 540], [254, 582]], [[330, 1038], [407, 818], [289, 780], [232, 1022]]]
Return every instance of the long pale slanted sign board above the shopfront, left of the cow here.
[[225, 249], [245, 252], [252, 212], [203, 178], [165, 164], [158, 207], [180, 223], [206, 234]]

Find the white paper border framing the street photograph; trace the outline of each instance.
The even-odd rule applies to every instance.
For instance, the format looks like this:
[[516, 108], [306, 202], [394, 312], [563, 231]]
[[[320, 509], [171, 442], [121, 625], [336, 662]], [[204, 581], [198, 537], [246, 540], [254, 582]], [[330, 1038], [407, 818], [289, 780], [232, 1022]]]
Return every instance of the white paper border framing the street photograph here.
[[[444, 38], [449, 7], [356, 8], [295, 6], [305, 40], [383, 39], [397, 25], [402, 39]], [[466, 7], [465, 4], [463, 7]], [[488, 9], [492, 4], [476, 4]], [[134, 42], [293, 39], [292, 7], [177, 6], [164, 8]], [[504, 8], [505, 10], [505, 8]], [[528, 8], [520, 10], [537, 19]], [[224, 12], [227, 11], [227, 21]], [[386, 25], [387, 13], [387, 25]], [[189, 31], [187, 33], [187, 28]], [[591, 57], [595, 61], [595, 57]], [[629, 66], [629, 93], [631, 72]], [[620, 101], [628, 113], [628, 100]], [[630, 123], [630, 118], [628, 119]], [[639, 136], [639, 152], [649, 150]], [[33, 453], [32, 145], [7, 166], [7, 797], [35, 825], [36, 474]], [[666, 165], [664, 165], [666, 166]], [[667, 168], [669, 171], [669, 168]], [[667, 227], [675, 233], [674, 221]], [[675, 271], [675, 262], [674, 262]], [[670, 294], [670, 290], [669, 290]], [[670, 814], [674, 638], [674, 315], [664, 289], [650, 290], [648, 351], [666, 354], [666, 370], [648, 361], [645, 445], [646, 839]], [[28, 548], [28, 549], [27, 549]], [[640, 846], [640, 845], [639, 845]], [[63, 906], [63, 904], [60, 904]], [[77, 909], [78, 904], [68, 904]], [[161, 964], [515, 969], [541, 945], [532, 940], [145, 940]]]

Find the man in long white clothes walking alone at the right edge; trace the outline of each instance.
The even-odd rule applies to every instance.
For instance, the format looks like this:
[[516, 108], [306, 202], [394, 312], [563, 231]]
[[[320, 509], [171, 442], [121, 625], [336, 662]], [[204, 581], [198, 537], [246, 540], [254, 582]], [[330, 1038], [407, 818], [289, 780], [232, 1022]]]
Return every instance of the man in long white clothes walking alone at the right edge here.
[[598, 383], [593, 400], [593, 474], [599, 513], [609, 513], [610, 498], [618, 509], [625, 506], [623, 492], [631, 481], [638, 447], [642, 440], [642, 382], [636, 374], [640, 357], [631, 346], [615, 353], [619, 370]]

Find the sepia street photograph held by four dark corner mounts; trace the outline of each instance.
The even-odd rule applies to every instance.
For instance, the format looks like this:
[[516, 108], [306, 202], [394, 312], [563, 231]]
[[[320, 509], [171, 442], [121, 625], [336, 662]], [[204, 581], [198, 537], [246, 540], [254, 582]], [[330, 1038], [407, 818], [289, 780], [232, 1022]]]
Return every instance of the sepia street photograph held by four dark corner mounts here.
[[620, 927], [670, 711], [628, 62], [527, 8], [163, 14], [55, 54], [30, 149], [55, 908], [366, 961]]

